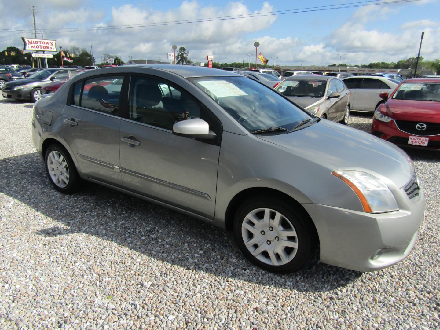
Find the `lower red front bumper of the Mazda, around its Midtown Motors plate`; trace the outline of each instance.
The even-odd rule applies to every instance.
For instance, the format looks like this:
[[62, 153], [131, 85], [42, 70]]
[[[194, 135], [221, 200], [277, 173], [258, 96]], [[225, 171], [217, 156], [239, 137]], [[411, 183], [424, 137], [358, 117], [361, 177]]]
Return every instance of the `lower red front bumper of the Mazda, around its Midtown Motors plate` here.
[[440, 150], [440, 135], [423, 136], [429, 138], [427, 146], [415, 146], [412, 144], [408, 144], [410, 135], [419, 135], [409, 134], [407, 132], [401, 131], [399, 128], [397, 128], [394, 120], [385, 123], [374, 118], [373, 124], [371, 125], [371, 134], [373, 134], [374, 136], [378, 136], [381, 139], [392, 142], [400, 147]]

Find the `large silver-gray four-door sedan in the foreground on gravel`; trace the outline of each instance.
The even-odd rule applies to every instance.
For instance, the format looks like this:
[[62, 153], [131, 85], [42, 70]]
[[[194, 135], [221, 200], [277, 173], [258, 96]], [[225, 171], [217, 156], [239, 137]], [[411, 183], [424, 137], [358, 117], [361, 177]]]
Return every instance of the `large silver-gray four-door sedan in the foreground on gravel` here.
[[57, 191], [89, 180], [198, 217], [233, 231], [273, 272], [302, 268], [317, 249], [326, 264], [388, 267], [410, 253], [423, 220], [400, 148], [234, 72], [89, 70], [40, 99], [32, 127]]

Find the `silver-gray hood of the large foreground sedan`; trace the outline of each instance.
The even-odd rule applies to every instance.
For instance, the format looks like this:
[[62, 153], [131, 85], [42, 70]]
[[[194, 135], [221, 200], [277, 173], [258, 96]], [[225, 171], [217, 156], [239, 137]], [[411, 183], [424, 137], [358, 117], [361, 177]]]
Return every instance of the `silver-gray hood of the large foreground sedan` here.
[[399, 147], [333, 121], [320, 120], [295, 132], [258, 137], [289, 149], [296, 157], [319, 163], [329, 172], [368, 172], [390, 189], [405, 186], [414, 173], [407, 154]]

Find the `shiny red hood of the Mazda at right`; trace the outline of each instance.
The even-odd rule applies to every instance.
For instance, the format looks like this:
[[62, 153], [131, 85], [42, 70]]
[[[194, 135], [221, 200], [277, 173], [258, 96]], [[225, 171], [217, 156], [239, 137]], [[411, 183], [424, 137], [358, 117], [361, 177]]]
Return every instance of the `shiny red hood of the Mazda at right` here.
[[385, 105], [387, 114], [395, 120], [440, 123], [440, 102], [389, 99]]

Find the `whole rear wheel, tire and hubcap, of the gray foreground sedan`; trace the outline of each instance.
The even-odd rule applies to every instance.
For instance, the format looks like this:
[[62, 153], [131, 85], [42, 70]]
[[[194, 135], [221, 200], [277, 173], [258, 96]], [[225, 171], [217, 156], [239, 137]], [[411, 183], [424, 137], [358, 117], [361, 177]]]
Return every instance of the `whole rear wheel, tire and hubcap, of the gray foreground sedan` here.
[[44, 157], [46, 173], [54, 188], [72, 194], [80, 187], [81, 178], [70, 154], [59, 144], [51, 144]]

